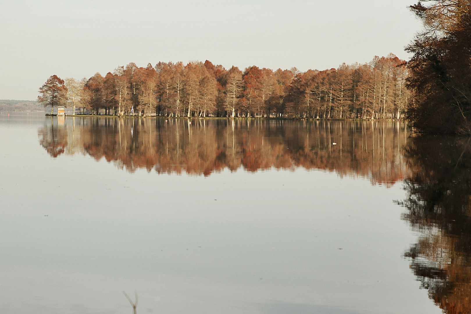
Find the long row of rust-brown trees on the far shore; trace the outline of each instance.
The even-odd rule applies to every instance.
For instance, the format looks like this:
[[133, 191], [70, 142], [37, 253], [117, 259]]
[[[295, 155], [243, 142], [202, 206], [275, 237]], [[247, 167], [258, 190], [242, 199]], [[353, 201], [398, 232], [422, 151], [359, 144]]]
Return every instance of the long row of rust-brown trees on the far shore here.
[[210, 61], [119, 66], [102, 76], [62, 80], [40, 89], [45, 106], [73, 113], [164, 117], [314, 119], [402, 118], [411, 96], [406, 62], [390, 54], [368, 64], [341, 64], [325, 71], [244, 71]]

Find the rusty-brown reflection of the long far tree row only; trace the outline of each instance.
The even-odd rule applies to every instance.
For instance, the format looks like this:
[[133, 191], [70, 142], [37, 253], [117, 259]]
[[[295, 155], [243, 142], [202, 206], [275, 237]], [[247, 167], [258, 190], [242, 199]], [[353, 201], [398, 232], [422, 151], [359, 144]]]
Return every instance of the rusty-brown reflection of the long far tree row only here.
[[302, 167], [385, 185], [407, 172], [401, 151], [409, 136], [398, 121], [99, 117], [67, 117], [63, 128], [48, 121], [39, 134], [53, 157], [84, 153], [130, 172], [209, 176], [223, 169]]

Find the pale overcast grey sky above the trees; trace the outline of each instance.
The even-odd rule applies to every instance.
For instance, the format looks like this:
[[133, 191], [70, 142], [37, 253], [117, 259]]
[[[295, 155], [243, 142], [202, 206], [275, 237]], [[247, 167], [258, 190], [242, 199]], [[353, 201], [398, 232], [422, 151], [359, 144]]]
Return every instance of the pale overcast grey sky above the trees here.
[[52, 74], [210, 60], [323, 70], [370, 61], [420, 30], [416, 0], [2, 0], [0, 99], [35, 100]]

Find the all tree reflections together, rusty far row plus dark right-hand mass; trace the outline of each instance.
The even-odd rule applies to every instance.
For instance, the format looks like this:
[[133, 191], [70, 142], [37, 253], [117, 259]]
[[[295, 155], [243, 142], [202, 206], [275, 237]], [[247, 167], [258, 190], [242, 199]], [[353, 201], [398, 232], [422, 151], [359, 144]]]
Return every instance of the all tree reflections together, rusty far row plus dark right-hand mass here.
[[471, 313], [468, 138], [409, 137], [397, 121], [55, 119], [38, 130], [52, 157], [88, 154], [129, 172], [209, 176], [301, 167], [387, 186], [405, 178], [403, 219], [421, 236], [404, 255], [445, 313]]

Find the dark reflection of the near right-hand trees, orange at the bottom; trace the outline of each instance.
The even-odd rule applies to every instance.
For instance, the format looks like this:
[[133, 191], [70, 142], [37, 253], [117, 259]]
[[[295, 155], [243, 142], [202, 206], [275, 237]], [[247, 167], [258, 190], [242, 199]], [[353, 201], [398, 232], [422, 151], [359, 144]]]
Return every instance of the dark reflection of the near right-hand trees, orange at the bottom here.
[[471, 142], [416, 137], [406, 148], [411, 177], [404, 219], [421, 232], [405, 256], [444, 313], [471, 313]]

